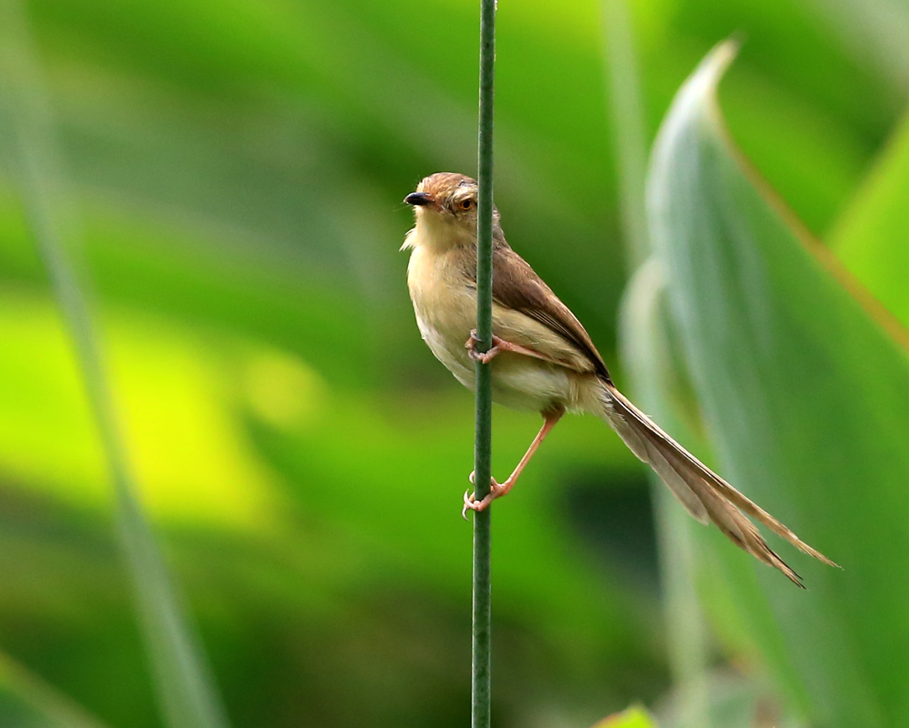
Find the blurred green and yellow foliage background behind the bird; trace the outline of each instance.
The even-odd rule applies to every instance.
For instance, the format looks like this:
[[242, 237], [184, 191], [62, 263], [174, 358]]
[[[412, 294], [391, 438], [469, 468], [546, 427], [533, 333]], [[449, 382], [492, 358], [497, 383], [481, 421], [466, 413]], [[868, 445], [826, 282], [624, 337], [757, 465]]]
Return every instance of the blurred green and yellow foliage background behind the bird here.
[[[398, 247], [419, 179], [475, 169], [475, 5], [26, 6], [137, 481], [238, 728], [469, 720], [473, 398], [420, 341]], [[826, 236], [904, 108], [882, 50], [904, 8], [886, 5], [896, 20], [874, 25], [854, 22], [872, 2], [635, 0], [647, 134], [742, 34], [731, 132]], [[504, 230], [627, 384], [602, 7], [504, 0], [497, 32]], [[496, 409], [494, 427], [504, 474], [538, 422]], [[566, 419], [494, 523], [495, 723], [667, 705], [650, 493], [614, 435]], [[25, 700], [162, 725], [95, 429], [9, 175], [0, 583], [2, 724], [57, 724], [29, 723]], [[785, 698], [730, 632], [707, 644], [745, 706], [724, 725], [775, 724]]]

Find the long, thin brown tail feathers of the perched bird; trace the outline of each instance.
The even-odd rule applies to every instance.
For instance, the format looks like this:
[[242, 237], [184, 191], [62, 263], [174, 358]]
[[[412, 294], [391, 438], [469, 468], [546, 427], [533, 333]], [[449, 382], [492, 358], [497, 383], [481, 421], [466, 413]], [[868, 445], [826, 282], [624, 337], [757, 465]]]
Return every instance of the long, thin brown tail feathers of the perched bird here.
[[604, 383], [603, 404], [604, 419], [624, 444], [654, 469], [688, 513], [702, 524], [713, 521], [734, 544], [779, 569], [803, 588], [802, 577], [774, 553], [745, 514], [804, 553], [836, 566], [676, 443], [612, 384]]

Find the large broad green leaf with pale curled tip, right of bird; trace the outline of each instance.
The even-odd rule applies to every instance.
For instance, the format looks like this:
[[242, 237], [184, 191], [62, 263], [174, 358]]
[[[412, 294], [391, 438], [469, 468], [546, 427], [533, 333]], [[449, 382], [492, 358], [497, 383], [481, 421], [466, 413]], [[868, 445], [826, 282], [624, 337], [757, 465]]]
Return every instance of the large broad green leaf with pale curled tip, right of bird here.
[[654, 249], [720, 472], [844, 570], [777, 541], [802, 593], [711, 543], [799, 710], [824, 726], [903, 725], [909, 562], [888, 554], [909, 549], [909, 364], [731, 144], [715, 89], [733, 56], [714, 49], [664, 121]]

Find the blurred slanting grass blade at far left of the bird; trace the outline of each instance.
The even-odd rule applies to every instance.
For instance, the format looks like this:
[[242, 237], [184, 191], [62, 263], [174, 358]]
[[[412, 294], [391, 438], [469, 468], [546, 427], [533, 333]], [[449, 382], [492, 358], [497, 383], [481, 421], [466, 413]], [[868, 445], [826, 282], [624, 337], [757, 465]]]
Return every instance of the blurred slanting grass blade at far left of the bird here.
[[117, 530], [165, 720], [171, 728], [224, 728], [225, 714], [213, 682], [138, 502], [94, 326], [65, 250], [74, 225], [55, 151], [50, 104], [25, 12], [16, 0], [0, 2], [0, 114], [3, 152], [72, 339], [114, 485]]

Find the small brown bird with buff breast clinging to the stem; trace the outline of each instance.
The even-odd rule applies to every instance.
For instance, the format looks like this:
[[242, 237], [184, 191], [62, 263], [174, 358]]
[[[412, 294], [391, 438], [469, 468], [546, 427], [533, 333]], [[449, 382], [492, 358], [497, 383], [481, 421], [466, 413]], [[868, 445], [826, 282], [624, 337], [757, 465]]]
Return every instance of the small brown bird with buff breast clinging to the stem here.
[[503, 484], [493, 480], [491, 493], [480, 501], [464, 494], [464, 514], [467, 509], [482, 511], [514, 487], [536, 448], [566, 411], [589, 412], [609, 424], [635, 455], [650, 464], [688, 513], [702, 524], [713, 521], [734, 544], [794, 583], [803, 586], [801, 577], [771, 550], [744, 514], [804, 553], [835, 566], [688, 453], [615, 388], [581, 322], [505, 242], [497, 210], [493, 214], [493, 348], [485, 354], [476, 351], [476, 200], [476, 182], [450, 172], [426, 177], [405, 197], [416, 217], [402, 246], [411, 250], [407, 284], [416, 324], [435, 357], [461, 384], [474, 389], [474, 363], [490, 364], [494, 402], [539, 412], [544, 424]]

